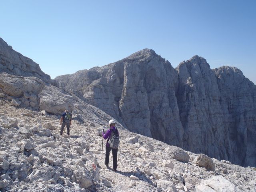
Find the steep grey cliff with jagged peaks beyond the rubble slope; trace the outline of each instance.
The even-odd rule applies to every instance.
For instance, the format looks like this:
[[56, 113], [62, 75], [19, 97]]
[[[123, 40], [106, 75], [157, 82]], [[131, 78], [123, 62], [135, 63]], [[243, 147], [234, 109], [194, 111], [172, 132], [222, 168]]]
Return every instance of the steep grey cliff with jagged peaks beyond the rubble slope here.
[[256, 166], [256, 86], [237, 68], [210, 69], [204, 58], [194, 56], [174, 69], [145, 49], [55, 80], [132, 132]]

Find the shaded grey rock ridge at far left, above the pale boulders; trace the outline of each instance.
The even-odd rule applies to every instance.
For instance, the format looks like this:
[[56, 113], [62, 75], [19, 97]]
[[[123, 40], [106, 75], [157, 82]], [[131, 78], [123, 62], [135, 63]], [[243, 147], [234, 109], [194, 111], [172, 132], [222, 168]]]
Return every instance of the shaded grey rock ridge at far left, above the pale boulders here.
[[35, 76], [44, 82], [50, 83], [50, 76], [42, 72], [37, 63], [14, 51], [2, 38], [0, 38], [0, 73], [1, 72], [17, 76]]

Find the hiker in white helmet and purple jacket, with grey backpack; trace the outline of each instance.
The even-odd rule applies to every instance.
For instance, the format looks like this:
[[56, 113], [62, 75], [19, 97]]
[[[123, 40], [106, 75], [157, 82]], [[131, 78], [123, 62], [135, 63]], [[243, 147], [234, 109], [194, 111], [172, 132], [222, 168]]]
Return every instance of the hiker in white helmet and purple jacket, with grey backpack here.
[[104, 139], [108, 139], [106, 142], [106, 157], [105, 157], [105, 165], [108, 167], [109, 163], [109, 154], [112, 150], [113, 156], [113, 170], [116, 172], [117, 168], [117, 150], [119, 146], [119, 133], [117, 128], [115, 127], [116, 122], [111, 119], [108, 122], [110, 128], [107, 130], [106, 134], [102, 131], [102, 136]]

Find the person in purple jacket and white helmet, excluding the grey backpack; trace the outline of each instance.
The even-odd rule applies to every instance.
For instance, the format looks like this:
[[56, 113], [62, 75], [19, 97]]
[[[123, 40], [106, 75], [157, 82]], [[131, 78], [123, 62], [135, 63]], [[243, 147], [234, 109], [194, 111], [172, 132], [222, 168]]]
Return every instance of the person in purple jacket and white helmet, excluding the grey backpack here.
[[110, 144], [109, 144], [109, 140], [110, 140], [110, 136], [111, 136], [111, 133], [112, 131], [116, 131], [117, 134], [119, 135], [118, 133], [118, 130], [117, 128], [115, 128], [115, 124], [116, 122], [112, 119], [108, 122], [110, 128], [107, 130], [106, 134], [104, 133], [104, 131], [102, 132], [102, 136], [104, 139], [107, 139], [107, 143], [106, 143], [106, 157], [105, 157], [105, 165], [108, 167], [108, 163], [109, 163], [109, 154], [110, 154], [110, 151], [112, 150], [112, 156], [113, 156], [113, 170], [114, 172], [116, 172], [116, 168], [117, 168], [117, 150], [118, 149], [115, 149], [115, 148], [111, 148], [110, 147]]

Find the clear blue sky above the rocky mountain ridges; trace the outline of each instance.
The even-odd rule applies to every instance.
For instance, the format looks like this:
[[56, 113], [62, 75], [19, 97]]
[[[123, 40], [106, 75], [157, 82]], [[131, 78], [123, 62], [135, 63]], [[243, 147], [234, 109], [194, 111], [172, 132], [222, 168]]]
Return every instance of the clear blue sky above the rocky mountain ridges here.
[[256, 84], [256, 0], [2, 0], [0, 37], [55, 78], [144, 48], [194, 55]]

